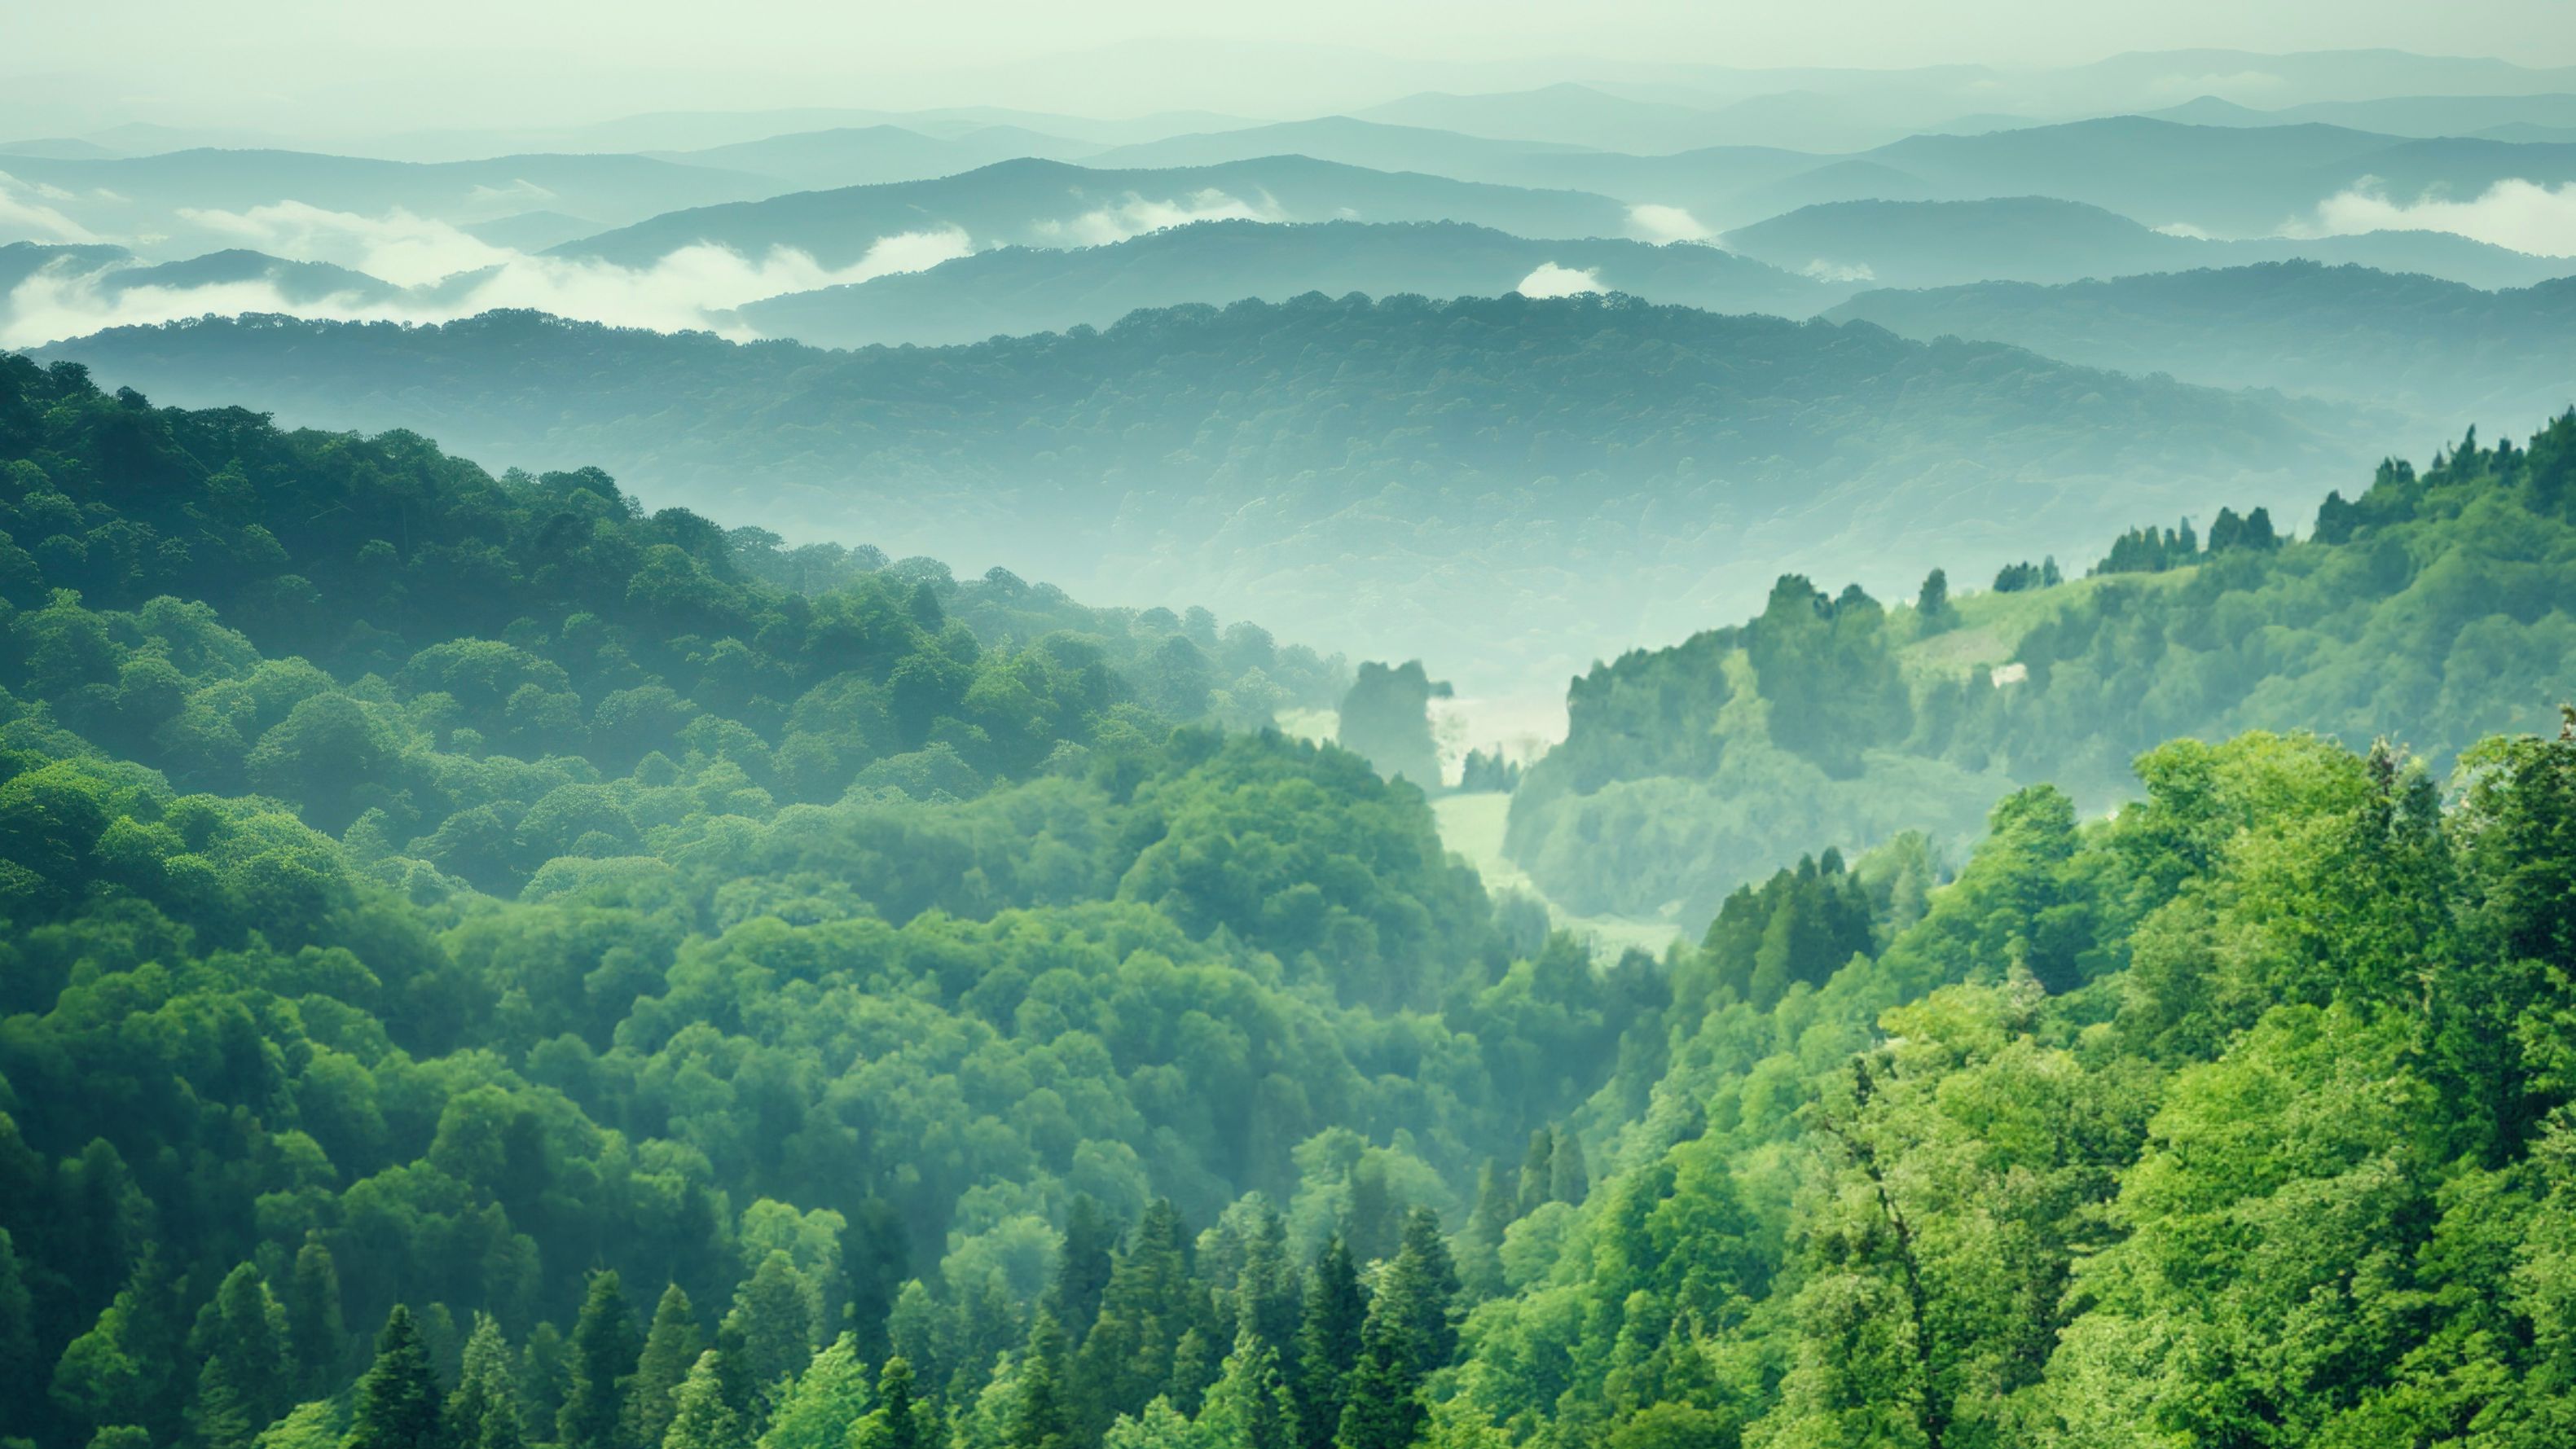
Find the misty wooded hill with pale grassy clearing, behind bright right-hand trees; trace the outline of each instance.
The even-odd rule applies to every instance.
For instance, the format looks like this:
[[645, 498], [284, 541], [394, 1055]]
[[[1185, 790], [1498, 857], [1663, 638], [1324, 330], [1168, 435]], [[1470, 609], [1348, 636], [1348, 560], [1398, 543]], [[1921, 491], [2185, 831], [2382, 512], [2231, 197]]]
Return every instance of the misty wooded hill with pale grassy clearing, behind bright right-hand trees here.
[[1739, 628], [1574, 679], [1510, 852], [1569, 909], [1698, 924], [1816, 844], [1965, 842], [2012, 785], [2105, 808], [2164, 739], [2388, 736], [2447, 770], [2576, 697], [2576, 414], [2357, 492], [2300, 540], [2267, 510], [2130, 530], [2066, 584], [2032, 561], [1883, 605], [1783, 577]]

